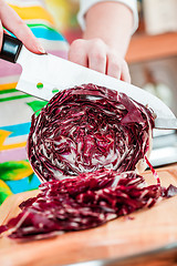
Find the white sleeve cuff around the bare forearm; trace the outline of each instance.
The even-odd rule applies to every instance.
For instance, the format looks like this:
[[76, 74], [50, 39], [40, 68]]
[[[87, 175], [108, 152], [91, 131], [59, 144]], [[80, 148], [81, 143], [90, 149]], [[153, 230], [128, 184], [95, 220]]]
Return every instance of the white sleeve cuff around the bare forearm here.
[[[103, 1], [106, 1], [106, 0], [80, 0], [80, 11], [77, 14], [77, 20], [79, 20], [79, 23], [80, 23], [82, 30], [85, 29], [84, 16], [87, 12], [87, 10], [95, 3], [103, 2]], [[132, 33], [134, 33], [138, 27], [137, 1], [136, 0], [112, 0], [112, 1], [124, 3], [132, 10], [133, 16], [134, 16], [134, 25], [133, 25]]]

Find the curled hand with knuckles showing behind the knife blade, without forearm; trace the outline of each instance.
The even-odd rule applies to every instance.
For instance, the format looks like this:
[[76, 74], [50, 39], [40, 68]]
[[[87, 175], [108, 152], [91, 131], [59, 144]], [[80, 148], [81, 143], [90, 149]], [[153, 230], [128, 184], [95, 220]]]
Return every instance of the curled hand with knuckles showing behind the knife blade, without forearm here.
[[70, 47], [69, 60], [113, 78], [131, 82], [129, 70], [123, 57], [98, 38], [75, 40]]

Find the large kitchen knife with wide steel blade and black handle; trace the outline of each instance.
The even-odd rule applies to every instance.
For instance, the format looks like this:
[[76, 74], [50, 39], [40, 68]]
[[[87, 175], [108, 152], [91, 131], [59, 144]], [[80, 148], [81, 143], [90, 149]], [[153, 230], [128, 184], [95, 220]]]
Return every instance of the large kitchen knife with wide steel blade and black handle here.
[[155, 95], [124, 81], [84, 68], [52, 54], [30, 52], [20, 40], [3, 34], [0, 58], [22, 66], [17, 90], [50, 101], [55, 92], [93, 83], [127, 94], [133, 100], [153, 110], [155, 127], [177, 129], [177, 119], [170, 109]]

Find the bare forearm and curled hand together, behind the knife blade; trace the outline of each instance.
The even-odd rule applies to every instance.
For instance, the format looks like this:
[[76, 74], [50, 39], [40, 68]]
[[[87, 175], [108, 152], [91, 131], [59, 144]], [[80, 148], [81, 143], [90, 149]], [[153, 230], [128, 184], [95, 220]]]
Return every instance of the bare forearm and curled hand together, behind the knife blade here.
[[132, 10], [118, 1], [97, 1], [84, 19], [83, 39], [71, 44], [69, 60], [131, 82], [124, 58], [133, 30]]

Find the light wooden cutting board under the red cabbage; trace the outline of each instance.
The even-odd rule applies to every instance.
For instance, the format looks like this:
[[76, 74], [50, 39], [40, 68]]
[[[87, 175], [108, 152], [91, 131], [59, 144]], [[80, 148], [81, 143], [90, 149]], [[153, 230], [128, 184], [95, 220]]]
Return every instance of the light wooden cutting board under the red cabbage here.
[[[157, 172], [164, 186], [177, 186], [177, 165]], [[150, 172], [144, 176], [149, 184], [154, 183]], [[37, 193], [21, 193], [7, 198], [0, 206], [0, 224], [17, 215], [18, 205]], [[56, 266], [118, 259], [177, 242], [177, 196], [164, 200], [150, 209], [138, 211], [131, 217], [133, 219], [121, 217], [97, 228], [65, 233], [51, 239], [17, 243], [2, 237], [0, 266]]]

